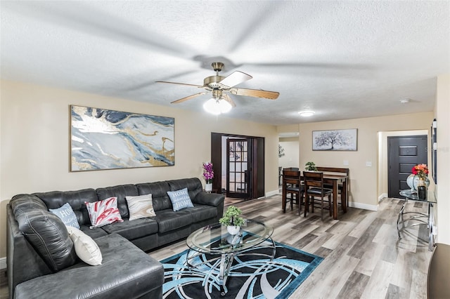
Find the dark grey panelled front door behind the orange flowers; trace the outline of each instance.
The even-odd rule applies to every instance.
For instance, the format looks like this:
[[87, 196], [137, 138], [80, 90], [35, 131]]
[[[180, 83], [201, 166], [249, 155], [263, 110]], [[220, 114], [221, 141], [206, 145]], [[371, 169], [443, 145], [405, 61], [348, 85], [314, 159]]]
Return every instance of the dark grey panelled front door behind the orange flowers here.
[[413, 166], [428, 163], [427, 145], [427, 135], [387, 138], [388, 197], [398, 198], [400, 190], [409, 189], [406, 178]]

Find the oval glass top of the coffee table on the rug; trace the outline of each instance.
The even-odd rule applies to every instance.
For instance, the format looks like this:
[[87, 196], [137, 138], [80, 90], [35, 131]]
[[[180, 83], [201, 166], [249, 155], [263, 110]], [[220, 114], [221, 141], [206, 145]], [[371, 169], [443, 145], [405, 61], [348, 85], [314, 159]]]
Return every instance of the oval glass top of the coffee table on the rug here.
[[269, 239], [274, 228], [257, 220], [245, 220], [236, 235], [229, 234], [220, 223], [202, 227], [186, 239], [186, 244], [194, 251], [224, 254], [243, 251]]

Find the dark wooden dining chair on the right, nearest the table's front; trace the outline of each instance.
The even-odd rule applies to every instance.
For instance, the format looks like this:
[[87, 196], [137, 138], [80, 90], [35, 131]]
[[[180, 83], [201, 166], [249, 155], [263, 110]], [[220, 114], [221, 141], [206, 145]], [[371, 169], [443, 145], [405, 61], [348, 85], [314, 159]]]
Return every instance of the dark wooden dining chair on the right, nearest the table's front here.
[[[323, 220], [324, 209], [328, 209], [331, 216], [331, 213], [333, 211], [333, 203], [331, 201], [333, 190], [323, 187], [323, 173], [316, 171], [303, 171], [303, 181], [305, 200], [304, 217], [307, 216], [307, 211], [309, 211], [310, 205], [311, 213], [314, 213], [314, 205], [318, 206], [319, 204], [321, 208], [321, 219]], [[320, 199], [317, 199], [319, 197]], [[325, 197], [328, 197], [328, 205], [324, 204], [323, 198]]]

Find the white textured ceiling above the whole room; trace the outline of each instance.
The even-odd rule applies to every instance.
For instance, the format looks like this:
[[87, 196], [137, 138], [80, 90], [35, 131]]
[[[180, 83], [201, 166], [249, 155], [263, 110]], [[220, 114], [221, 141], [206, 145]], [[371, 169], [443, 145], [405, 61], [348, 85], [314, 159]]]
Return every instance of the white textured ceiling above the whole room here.
[[[180, 109], [240, 70], [227, 117], [298, 124], [431, 111], [450, 73], [450, 1], [1, 1], [1, 78]], [[200, 90], [201, 91], [201, 90]], [[410, 98], [409, 104], [400, 100]], [[301, 118], [303, 109], [316, 112]]]

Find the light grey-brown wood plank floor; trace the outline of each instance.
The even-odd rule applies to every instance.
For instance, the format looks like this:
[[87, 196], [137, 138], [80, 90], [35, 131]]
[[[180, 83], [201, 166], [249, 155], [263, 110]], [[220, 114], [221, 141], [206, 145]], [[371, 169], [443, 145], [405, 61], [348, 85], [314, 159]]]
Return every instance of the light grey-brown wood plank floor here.
[[[426, 281], [431, 252], [426, 225], [407, 227], [397, 237], [399, 199], [384, 199], [378, 211], [348, 208], [339, 220], [320, 219], [320, 210], [307, 218], [297, 208], [281, 210], [281, 196], [252, 201], [226, 201], [242, 209], [245, 218], [274, 226], [274, 241], [320, 255], [323, 262], [290, 296], [294, 298], [427, 298]], [[426, 211], [409, 203], [409, 211]], [[303, 211], [303, 210], [302, 210]], [[179, 241], [149, 254], [158, 260], [186, 249]], [[7, 298], [0, 287], [0, 298]]]

